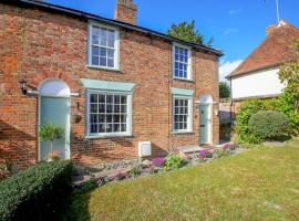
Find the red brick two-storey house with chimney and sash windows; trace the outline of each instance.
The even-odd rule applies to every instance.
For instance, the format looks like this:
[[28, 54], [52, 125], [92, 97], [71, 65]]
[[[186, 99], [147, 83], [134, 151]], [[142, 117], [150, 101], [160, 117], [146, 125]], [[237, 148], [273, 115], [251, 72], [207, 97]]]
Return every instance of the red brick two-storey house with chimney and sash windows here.
[[138, 27], [136, 13], [132, 0], [117, 1], [113, 20], [0, 2], [1, 160], [45, 160], [47, 123], [64, 129], [60, 157], [87, 165], [218, 143], [221, 52]]

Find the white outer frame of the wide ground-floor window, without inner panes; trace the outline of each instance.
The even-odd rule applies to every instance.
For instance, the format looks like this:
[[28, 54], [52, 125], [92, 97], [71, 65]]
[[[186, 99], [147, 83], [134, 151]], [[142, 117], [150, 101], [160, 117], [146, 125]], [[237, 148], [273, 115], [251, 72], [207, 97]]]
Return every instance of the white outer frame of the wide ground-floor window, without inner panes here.
[[[105, 94], [105, 95], [125, 95], [126, 96], [126, 131], [120, 133], [91, 133], [90, 131], [90, 96], [91, 94]], [[130, 137], [132, 136], [132, 93], [117, 92], [117, 91], [102, 91], [102, 90], [86, 90], [86, 106], [85, 106], [85, 138], [109, 138], [109, 137]]]

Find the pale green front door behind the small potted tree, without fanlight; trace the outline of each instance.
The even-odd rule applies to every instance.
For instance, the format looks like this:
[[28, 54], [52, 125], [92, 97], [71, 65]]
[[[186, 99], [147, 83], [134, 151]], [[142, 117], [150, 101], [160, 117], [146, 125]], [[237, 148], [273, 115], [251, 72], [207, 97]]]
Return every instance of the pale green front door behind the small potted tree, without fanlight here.
[[[52, 123], [64, 129], [63, 136], [53, 143], [61, 159], [70, 158], [70, 97], [40, 97], [40, 125]], [[49, 141], [40, 141], [40, 160], [47, 160], [50, 150]]]

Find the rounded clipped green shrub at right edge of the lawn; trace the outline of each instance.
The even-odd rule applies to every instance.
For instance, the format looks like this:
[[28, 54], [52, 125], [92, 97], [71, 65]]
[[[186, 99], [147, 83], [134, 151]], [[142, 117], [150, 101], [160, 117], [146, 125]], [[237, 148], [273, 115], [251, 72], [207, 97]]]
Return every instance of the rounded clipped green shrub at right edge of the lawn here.
[[286, 115], [275, 110], [258, 112], [252, 115], [248, 128], [260, 140], [275, 139], [288, 135], [289, 123]]

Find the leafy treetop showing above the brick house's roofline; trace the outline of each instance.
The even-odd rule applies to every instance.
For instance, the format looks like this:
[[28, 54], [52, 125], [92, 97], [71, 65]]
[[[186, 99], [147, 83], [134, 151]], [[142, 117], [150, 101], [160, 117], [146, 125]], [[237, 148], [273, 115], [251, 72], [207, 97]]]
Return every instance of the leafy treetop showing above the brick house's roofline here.
[[205, 43], [205, 36], [198, 30], [195, 29], [194, 20], [190, 23], [184, 21], [178, 24], [173, 24], [168, 29], [167, 34], [182, 41], [197, 44], [205, 44], [208, 46], [212, 46], [214, 41], [212, 38], [207, 43]]

